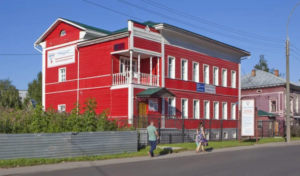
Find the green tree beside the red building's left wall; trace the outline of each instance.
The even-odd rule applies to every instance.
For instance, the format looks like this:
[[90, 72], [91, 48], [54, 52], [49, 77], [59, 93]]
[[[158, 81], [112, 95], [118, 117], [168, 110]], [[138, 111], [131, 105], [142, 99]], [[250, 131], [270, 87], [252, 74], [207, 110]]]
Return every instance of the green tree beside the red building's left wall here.
[[37, 104], [42, 102], [42, 73], [39, 71], [37, 77], [28, 83], [28, 94], [24, 100], [24, 105], [26, 106], [29, 99], [34, 99]]

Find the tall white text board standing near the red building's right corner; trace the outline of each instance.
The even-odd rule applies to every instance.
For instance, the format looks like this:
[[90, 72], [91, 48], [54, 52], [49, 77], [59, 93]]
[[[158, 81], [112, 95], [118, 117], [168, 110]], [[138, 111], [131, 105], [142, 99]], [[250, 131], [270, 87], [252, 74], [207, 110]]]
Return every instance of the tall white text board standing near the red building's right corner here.
[[254, 136], [255, 130], [254, 99], [241, 100], [241, 135]]

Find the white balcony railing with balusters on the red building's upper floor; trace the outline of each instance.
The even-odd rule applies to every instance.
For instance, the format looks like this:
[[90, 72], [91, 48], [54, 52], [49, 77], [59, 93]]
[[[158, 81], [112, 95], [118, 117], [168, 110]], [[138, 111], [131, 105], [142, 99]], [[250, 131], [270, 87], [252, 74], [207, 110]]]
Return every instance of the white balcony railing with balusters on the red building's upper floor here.
[[132, 72], [130, 76], [130, 72], [121, 72], [112, 74], [112, 85], [126, 84], [126, 83], [136, 83], [143, 85], [152, 85], [159, 86], [159, 76]]

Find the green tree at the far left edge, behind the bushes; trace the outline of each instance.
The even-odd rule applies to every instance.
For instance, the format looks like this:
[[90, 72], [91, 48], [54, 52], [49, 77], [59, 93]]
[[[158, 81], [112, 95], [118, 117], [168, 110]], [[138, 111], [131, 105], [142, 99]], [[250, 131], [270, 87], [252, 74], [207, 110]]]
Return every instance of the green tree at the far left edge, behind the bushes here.
[[20, 109], [21, 104], [18, 90], [12, 84], [12, 81], [9, 78], [0, 79], [0, 106]]

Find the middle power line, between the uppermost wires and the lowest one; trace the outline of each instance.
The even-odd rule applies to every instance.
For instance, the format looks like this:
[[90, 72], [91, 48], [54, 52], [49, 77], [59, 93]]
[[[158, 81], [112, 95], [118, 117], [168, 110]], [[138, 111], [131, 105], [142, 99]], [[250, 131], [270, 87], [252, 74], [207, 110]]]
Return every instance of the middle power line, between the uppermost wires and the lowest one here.
[[[214, 31], [214, 30], [210, 30], [210, 29], [207, 29], [207, 28], [198, 26], [198, 25], [194, 25], [194, 24], [189, 23], [189, 22], [185, 22], [185, 21], [182, 21], [182, 20], [179, 20], [179, 19], [175, 19], [175, 18], [172, 18], [172, 17], [170, 17], [170, 16], [166, 16], [166, 15], [161, 14], [161, 13], [158, 13], [158, 12], [155, 12], [155, 13], [154, 13], [152, 10], [143, 8], [143, 7], [141, 7], [141, 6], [132, 4], [132, 3], [130, 3], [130, 2], [126, 2], [126, 1], [124, 1], [124, 0], [118, 0], [118, 1], [120, 1], [120, 2], [122, 2], [122, 3], [126, 3], [126, 4], [128, 4], [128, 5], [130, 5], [130, 6], [134, 6], [134, 7], [136, 7], [136, 8], [142, 9], [142, 10], [144, 10], [144, 11], [148, 11], [148, 12], [150, 12], [150, 13], [152, 13], [152, 14], [155, 14], [155, 15], [158, 15], [158, 16], [161, 16], [161, 17], [164, 17], [164, 18], [167, 18], [167, 19], [170, 19], [170, 20], [173, 20], [173, 21], [176, 21], [176, 22], [179, 22], [179, 23], [182, 23], [182, 24], [191, 26], [191, 27], [195, 27], [195, 28], [198, 28], [198, 29], [207, 31], [207, 32], [215, 33], [215, 34], [218, 34], [218, 35], [221, 35], [221, 36], [226, 36], [226, 37], [233, 38], [233, 39], [236, 39], [236, 40], [241, 40], [241, 41], [245, 41], [245, 42], [250, 42], [250, 43], [260, 44], [260, 45], [265, 45], [265, 46], [270, 46], [270, 47], [278, 47], [278, 46], [281, 46], [280, 44], [265, 43], [265, 42], [260, 42], [260, 41], [255, 41], [255, 40], [249, 40], [249, 39], [246, 39], [246, 40], [245, 40], [245, 38], [236, 37], [236, 36], [233, 36], [233, 35], [224, 34], [224, 33], [222, 33], [222, 32], [217, 32], [217, 31]], [[251, 41], [252, 41], [252, 42], [251, 42]], [[261, 44], [261, 43], [262, 43], [262, 44]], [[278, 47], [278, 48], [281, 48], [281, 47]]]

